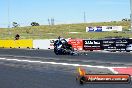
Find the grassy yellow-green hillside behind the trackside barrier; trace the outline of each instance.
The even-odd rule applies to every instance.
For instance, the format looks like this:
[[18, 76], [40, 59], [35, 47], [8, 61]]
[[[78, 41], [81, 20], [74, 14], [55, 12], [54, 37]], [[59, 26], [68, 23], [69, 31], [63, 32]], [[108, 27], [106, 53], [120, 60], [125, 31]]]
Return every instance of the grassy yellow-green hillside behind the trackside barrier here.
[[[124, 32], [101, 32], [86, 33], [87, 26], [123, 26]], [[130, 22], [100, 22], [100, 23], [80, 23], [80, 24], [62, 24], [62, 25], [42, 25], [34, 27], [0, 28], [0, 39], [14, 39], [14, 35], [20, 34], [21, 39], [50, 39], [63, 36], [65, 38], [104, 38], [108, 36], [132, 37], [128, 33]], [[75, 33], [78, 32], [78, 33]]]

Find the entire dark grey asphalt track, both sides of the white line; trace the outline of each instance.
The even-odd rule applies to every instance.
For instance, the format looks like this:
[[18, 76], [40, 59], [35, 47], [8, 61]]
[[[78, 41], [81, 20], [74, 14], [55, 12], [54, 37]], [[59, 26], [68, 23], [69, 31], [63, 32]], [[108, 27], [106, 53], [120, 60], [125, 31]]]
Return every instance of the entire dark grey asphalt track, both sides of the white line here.
[[[103, 66], [131, 66], [131, 53], [88, 52], [80, 56], [56, 56], [51, 50], [0, 49], [1, 58], [79, 63]], [[88, 68], [91, 73], [112, 73]], [[132, 88], [130, 84], [86, 84], [75, 80], [76, 67], [0, 60], [0, 88]]]

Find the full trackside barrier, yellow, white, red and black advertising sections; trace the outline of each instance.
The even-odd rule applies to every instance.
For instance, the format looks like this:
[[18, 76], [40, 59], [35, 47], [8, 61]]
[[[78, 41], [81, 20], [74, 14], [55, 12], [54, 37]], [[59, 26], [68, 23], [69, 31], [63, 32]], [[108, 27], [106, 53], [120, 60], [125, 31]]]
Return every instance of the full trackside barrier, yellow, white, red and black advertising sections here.
[[[0, 48], [54, 49], [57, 39], [0, 40]], [[66, 39], [74, 50], [132, 51], [132, 39]]]

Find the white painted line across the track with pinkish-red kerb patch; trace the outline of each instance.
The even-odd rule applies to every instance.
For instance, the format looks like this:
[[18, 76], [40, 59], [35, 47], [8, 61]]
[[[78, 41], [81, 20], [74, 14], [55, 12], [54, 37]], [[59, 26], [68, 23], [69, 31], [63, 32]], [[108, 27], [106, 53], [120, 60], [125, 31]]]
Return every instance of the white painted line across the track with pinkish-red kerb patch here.
[[112, 71], [114, 74], [130, 74], [132, 75], [132, 67], [105, 67], [105, 66], [92, 66], [92, 65], [81, 65], [81, 64], [69, 64], [69, 63], [57, 63], [57, 62], [43, 62], [35, 60], [19, 60], [19, 59], [8, 59], [0, 58], [4, 61], [14, 61], [14, 62], [27, 62], [27, 63], [39, 63], [39, 64], [52, 64], [52, 65], [63, 65], [63, 66], [74, 66], [74, 67], [91, 67], [91, 68], [106, 68]]

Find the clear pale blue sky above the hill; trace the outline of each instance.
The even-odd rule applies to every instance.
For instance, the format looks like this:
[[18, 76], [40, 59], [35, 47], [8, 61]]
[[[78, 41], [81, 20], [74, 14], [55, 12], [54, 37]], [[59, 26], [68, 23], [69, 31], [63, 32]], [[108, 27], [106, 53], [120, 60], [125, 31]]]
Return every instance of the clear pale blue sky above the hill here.
[[88, 23], [130, 18], [130, 0], [0, 0], [0, 28], [47, 25], [51, 18], [55, 24], [83, 23], [84, 13]]

